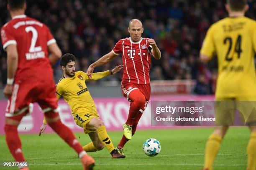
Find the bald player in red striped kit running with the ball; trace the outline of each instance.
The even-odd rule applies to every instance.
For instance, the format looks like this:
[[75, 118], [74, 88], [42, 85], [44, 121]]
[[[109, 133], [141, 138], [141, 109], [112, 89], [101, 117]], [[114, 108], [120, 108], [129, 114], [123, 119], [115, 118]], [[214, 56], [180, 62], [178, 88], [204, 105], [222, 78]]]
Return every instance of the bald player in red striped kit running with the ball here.
[[90, 77], [95, 67], [109, 63], [122, 53], [124, 73], [121, 88], [123, 96], [131, 102], [128, 119], [123, 124], [124, 135], [117, 147], [122, 154], [123, 147], [135, 133], [138, 121], [150, 98], [151, 55], [157, 60], [161, 58], [161, 52], [154, 39], [141, 38], [143, 27], [140, 20], [132, 19], [129, 23], [128, 32], [130, 33], [129, 38], [119, 40], [110, 53], [92, 63], [87, 70]]

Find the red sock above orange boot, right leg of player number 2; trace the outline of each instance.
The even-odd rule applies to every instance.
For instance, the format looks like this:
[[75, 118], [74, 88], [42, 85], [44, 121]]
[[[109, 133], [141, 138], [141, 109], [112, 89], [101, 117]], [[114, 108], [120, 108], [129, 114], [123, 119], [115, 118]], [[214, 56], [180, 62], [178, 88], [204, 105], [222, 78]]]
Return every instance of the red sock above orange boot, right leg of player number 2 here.
[[[45, 116], [47, 118], [53, 118], [59, 116], [59, 114], [55, 112], [47, 112], [45, 113]], [[60, 119], [56, 122], [49, 123], [49, 126], [54, 130], [54, 132], [59, 134], [59, 136], [65, 142], [67, 142], [67, 144], [69, 144], [69, 146], [72, 147], [77, 152], [77, 154], [80, 154], [84, 151], [78, 140], [74, 137], [73, 132], [63, 123], [61, 123]]]

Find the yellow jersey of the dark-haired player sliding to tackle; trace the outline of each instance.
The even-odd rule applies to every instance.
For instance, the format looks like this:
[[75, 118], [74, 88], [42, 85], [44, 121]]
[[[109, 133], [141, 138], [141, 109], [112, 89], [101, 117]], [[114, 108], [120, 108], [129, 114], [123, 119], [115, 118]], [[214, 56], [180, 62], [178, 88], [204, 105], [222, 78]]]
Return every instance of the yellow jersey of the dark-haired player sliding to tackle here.
[[83, 71], [77, 71], [73, 77], [64, 78], [59, 80], [56, 85], [57, 98], [62, 96], [69, 104], [72, 114], [79, 113], [97, 113], [92, 96], [85, 84], [86, 81], [95, 81], [110, 75], [110, 71], [93, 73], [92, 79], [89, 79]]

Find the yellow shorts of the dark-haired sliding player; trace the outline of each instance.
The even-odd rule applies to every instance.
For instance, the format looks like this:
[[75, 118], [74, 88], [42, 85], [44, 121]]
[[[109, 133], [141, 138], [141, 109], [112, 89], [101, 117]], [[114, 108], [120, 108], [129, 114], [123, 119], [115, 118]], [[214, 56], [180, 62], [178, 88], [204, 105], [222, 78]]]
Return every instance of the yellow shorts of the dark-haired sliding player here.
[[79, 127], [82, 127], [84, 129], [84, 134], [90, 133], [90, 132], [97, 132], [97, 130], [88, 130], [86, 129], [86, 125], [91, 121], [93, 117], [96, 117], [97, 119], [100, 119], [99, 115], [97, 113], [89, 114], [89, 113], [77, 113], [73, 114], [74, 121]]

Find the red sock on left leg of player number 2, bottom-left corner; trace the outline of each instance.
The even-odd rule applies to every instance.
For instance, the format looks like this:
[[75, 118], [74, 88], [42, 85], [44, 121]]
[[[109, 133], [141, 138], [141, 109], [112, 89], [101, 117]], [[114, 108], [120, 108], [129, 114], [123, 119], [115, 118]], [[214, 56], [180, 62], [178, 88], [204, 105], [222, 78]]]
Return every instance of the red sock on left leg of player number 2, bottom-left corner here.
[[16, 162], [25, 162], [17, 126], [5, 124], [5, 140]]

